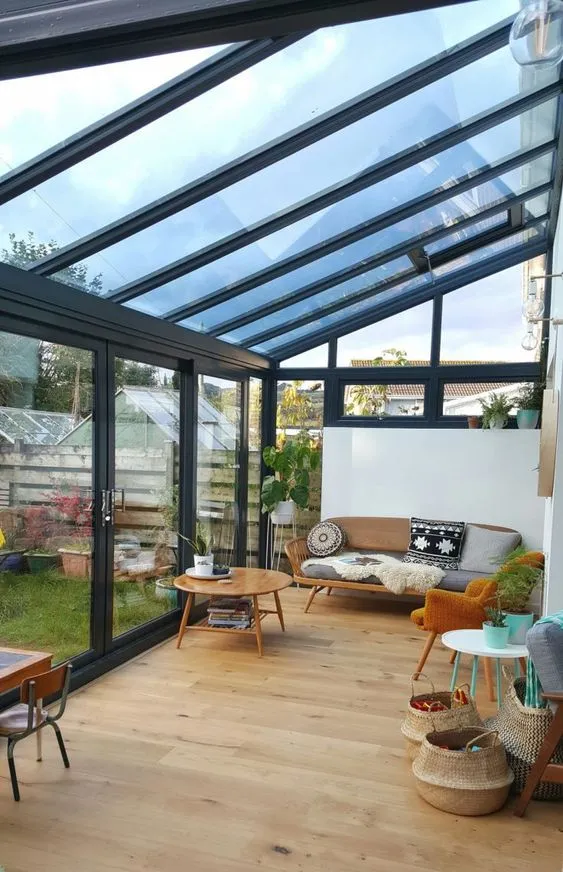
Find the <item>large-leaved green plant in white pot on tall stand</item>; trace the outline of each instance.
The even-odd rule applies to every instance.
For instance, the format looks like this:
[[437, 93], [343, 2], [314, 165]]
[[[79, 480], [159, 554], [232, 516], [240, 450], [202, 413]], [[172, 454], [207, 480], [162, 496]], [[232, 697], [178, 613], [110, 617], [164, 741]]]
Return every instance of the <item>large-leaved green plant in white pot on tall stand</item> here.
[[304, 434], [278, 446], [267, 445], [262, 457], [274, 472], [262, 482], [262, 511], [270, 513], [274, 524], [290, 524], [295, 506], [306, 509], [309, 505], [309, 473], [319, 467], [319, 449]]

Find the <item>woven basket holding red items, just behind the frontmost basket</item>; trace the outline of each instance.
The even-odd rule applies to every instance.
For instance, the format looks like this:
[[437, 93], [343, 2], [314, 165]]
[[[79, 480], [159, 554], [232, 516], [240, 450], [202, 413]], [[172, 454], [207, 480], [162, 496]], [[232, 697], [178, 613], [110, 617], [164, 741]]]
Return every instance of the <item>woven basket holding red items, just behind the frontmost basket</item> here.
[[[426, 693], [419, 693], [415, 695], [414, 692], [414, 679], [415, 676], [420, 675], [422, 678], [425, 678], [426, 681], [430, 684], [431, 691], [426, 691]], [[456, 702], [454, 699], [454, 695], [451, 691], [436, 691], [434, 689], [434, 685], [432, 681], [428, 678], [428, 676], [424, 675], [423, 672], [415, 672], [411, 678], [411, 698], [409, 701], [409, 706], [407, 709], [407, 714], [403, 723], [401, 724], [401, 733], [406, 739], [407, 743], [407, 754], [411, 760], [414, 760], [418, 751], [420, 749], [420, 745], [424, 737], [427, 733], [436, 732], [439, 730], [456, 730], [461, 727], [481, 727], [483, 728], [483, 721], [479, 716], [479, 712], [477, 711], [477, 707], [475, 705], [475, 700], [469, 694], [469, 685], [463, 685], [463, 687], [467, 687], [467, 704], [462, 705], [459, 702]], [[411, 704], [412, 702], [429, 702], [432, 700], [439, 700], [443, 705], [446, 706], [446, 711], [443, 712], [421, 712], [417, 709], [413, 709]]]

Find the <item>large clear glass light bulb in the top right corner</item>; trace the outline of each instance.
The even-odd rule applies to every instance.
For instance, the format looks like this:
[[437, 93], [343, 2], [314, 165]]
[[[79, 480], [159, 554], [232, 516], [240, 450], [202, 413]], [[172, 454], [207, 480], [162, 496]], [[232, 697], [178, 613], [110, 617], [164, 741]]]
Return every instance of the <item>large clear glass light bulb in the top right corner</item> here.
[[510, 31], [510, 50], [523, 67], [553, 67], [563, 60], [563, 2], [523, 0]]

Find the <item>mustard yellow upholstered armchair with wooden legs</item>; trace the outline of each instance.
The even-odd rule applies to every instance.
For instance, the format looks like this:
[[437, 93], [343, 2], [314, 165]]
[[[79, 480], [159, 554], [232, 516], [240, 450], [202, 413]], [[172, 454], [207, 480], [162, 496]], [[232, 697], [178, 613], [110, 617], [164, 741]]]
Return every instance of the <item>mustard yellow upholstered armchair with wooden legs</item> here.
[[[422, 672], [436, 637], [449, 630], [480, 630], [486, 619], [485, 608], [496, 594], [496, 581], [476, 578], [465, 593], [433, 588], [426, 594], [424, 607], [411, 612], [411, 621], [429, 633], [422, 656], [416, 667]], [[455, 652], [454, 652], [455, 655]]]

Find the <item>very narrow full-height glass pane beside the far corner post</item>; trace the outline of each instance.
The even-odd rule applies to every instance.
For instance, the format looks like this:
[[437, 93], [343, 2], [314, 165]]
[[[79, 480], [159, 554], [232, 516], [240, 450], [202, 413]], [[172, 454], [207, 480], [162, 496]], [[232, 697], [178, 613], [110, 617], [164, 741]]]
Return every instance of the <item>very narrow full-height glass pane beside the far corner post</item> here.
[[258, 566], [260, 539], [260, 471], [262, 468], [262, 379], [249, 379], [248, 507], [246, 565]]

